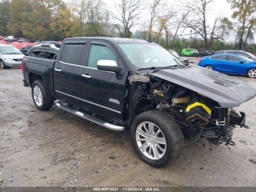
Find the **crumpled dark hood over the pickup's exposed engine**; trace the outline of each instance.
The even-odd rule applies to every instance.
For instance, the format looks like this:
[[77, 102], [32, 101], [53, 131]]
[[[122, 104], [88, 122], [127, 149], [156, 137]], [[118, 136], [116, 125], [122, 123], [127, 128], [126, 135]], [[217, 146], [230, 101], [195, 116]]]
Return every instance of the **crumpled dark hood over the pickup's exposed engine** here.
[[203, 94], [223, 108], [237, 107], [256, 96], [252, 85], [200, 66], [154, 70], [148, 74]]

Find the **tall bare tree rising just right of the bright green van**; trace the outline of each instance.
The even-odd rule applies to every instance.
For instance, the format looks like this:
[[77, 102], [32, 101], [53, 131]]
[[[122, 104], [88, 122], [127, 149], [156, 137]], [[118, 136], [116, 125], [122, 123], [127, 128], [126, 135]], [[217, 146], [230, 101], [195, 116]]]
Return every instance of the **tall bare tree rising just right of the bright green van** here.
[[214, 0], [191, 0], [186, 2], [184, 6], [191, 10], [192, 17], [186, 18], [183, 26], [192, 29], [204, 39], [204, 47], [208, 48], [208, 26], [206, 22], [208, 6]]

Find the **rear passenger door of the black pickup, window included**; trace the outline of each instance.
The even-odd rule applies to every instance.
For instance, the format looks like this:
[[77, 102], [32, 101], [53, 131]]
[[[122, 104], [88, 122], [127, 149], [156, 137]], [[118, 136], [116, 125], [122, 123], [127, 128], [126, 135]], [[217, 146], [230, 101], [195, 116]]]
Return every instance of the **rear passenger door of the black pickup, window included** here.
[[81, 68], [84, 66], [87, 40], [65, 42], [53, 69], [54, 89], [60, 100], [80, 104]]

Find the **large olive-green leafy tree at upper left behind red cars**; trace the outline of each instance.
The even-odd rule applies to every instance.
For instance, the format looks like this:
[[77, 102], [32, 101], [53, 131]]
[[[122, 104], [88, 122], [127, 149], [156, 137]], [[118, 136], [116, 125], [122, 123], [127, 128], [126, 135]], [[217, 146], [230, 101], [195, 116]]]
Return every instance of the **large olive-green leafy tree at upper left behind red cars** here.
[[12, 0], [8, 30], [15, 36], [46, 40], [52, 38], [50, 23], [60, 8], [61, 0]]

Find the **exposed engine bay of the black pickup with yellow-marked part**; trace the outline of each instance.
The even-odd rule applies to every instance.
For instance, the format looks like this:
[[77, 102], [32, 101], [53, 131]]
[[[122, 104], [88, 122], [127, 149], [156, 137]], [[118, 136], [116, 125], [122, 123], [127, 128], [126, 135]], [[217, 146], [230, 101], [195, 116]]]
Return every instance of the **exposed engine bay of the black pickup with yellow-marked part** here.
[[223, 108], [199, 92], [155, 76], [131, 75], [128, 79], [133, 97], [138, 97], [140, 103], [137, 110], [142, 112], [153, 108], [168, 113], [180, 125], [187, 139], [197, 138], [196, 144], [200, 142], [206, 147], [202, 141], [206, 137], [217, 146], [223, 142], [235, 145], [232, 141], [235, 126], [249, 128], [245, 125], [244, 112], [239, 115], [232, 107]]

